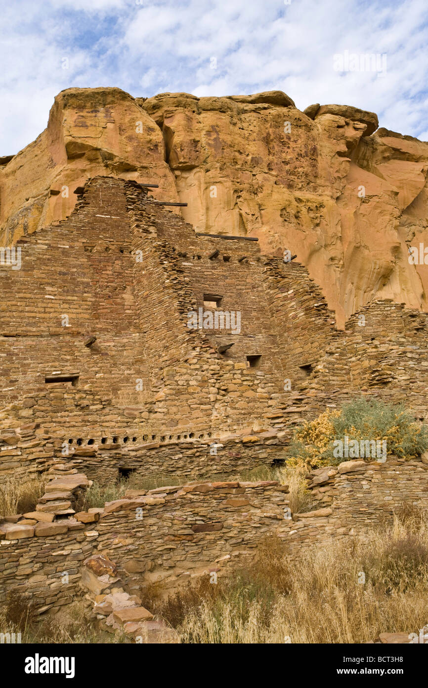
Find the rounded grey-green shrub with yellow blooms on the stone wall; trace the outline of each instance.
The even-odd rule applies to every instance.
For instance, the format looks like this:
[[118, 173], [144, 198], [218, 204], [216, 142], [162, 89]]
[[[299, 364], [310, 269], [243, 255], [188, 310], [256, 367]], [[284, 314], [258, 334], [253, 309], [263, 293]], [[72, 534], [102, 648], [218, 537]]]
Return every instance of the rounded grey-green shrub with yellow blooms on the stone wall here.
[[289, 466], [318, 468], [348, 460], [333, 454], [335, 440], [386, 441], [387, 452], [413, 457], [428, 448], [428, 428], [416, 422], [403, 405], [360, 398], [341, 409], [326, 409], [318, 418], [304, 422], [286, 451]]

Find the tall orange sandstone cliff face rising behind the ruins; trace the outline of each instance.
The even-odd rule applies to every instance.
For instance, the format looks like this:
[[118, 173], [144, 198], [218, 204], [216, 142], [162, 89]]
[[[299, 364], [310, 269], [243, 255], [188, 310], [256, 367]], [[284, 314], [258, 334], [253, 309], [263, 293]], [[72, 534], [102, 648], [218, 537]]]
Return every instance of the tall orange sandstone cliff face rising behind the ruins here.
[[187, 202], [196, 230], [291, 250], [339, 326], [372, 299], [428, 310], [428, 266], [408, 260], [427, 236], [428, 143], [377, 127], [373, 113], [302, 112], [278, 91], [144, 99], [67, 89], [36, 141], [0, 158], [0, 245], [65, 219], [74, 190], [109, 175], [159, 184], [153, 195]]

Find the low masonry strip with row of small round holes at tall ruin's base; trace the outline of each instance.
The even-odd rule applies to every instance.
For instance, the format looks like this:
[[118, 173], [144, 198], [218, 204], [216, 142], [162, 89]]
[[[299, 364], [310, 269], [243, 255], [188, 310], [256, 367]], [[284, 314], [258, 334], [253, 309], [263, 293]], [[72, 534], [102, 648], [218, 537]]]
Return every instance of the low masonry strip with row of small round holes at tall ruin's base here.
[[[0, 429], [0, 475], [42, 473], [58, 462], [102, 485], [116, 480], [122, 469], [142, 477], [173, 475], [184, 480], [236, 475], [284, 460], [287, 436], [280, 429], [254, 431], [247, 427], [234, 433], [205, 433], [204, 438], [193, 433], [185, 438], [166, 434], [147, 442], [135, 432], [128, 428], [117, 436], [84, 436], [70, 438], [68, 443], [64, 438], [50, 437], [37, 422]], [[67, 455], [63, 455], [64, 447]]]

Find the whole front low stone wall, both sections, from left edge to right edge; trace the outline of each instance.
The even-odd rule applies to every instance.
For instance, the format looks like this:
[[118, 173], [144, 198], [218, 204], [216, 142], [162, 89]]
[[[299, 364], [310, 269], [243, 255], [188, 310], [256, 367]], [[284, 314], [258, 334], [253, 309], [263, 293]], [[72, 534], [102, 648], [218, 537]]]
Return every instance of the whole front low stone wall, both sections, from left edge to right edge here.
[[[221, 572], [270, 534], [298, 559], [302, 547], [376, 526], [404, 503], [428, 506], [428, 463], [425, 457], [343, 462], [313, 471], [310, 489], [319, 508], [292, 517], [286, 486], [230, 481], [128, 491], [104, 510], [59, 516], [45, 528], [21, 522], [16, 528], [17, 517], [10, 517], [0, 524], [0, 601], [17, 588], [41, 611], [65, 605], [83, 594], [82, 561], [95, 554], [115, 561], [131, 593], [156, 581], [172, 590]], [[52, 535], [45, 535], [49, 527]], [[99, 592], [108, 590], [106, 581]]]

